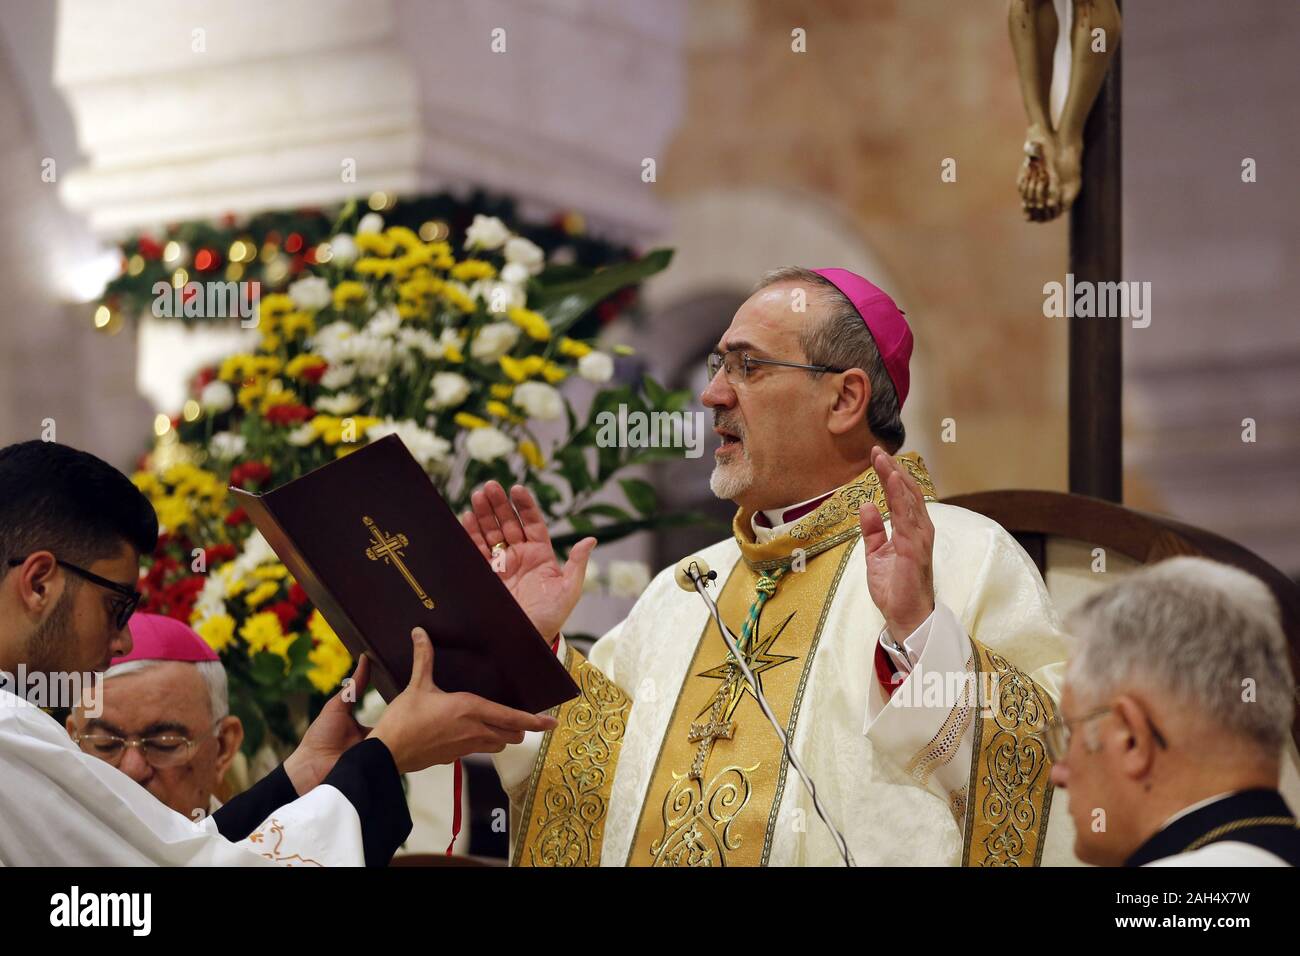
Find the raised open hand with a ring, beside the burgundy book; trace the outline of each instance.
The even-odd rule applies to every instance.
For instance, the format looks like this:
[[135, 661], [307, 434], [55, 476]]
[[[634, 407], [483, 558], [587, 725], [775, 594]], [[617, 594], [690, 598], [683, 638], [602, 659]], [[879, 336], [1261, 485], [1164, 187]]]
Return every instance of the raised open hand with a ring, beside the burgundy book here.
[[[594, 537], [573, 545], [560, 567], [551, 548], [542, 510], [523, 485], [506, 489], [489, 481], [469, 496], [473, 510], [460, 515], [460, 524], [524, 609], [533, 627], [547, 641], [555, 639], [582, 597], [586, 562]], [[493, 546], [506, 548], [493, 551]]]

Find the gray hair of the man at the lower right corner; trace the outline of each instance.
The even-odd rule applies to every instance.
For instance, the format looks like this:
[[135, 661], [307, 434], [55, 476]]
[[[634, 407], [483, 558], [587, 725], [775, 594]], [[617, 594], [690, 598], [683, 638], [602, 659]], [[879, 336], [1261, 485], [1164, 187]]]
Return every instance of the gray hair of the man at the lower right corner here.
[[1088, 597], [1066, 630], [1076, 640], [1067, 680], [1089, 697], [1162, 691], [1271, 754], [1291, 732], [1295, 680], [1278, 604], [1245, 571], [1170, 558]]

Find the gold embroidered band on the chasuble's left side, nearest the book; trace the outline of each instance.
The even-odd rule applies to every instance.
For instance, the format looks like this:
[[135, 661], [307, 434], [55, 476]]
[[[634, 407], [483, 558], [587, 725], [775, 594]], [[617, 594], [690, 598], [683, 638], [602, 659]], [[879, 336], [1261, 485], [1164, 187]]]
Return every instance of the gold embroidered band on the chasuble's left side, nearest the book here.
[[533, 766], [515, 866], [597, 866], [632, 698], [568, 648], [578, 696], [562, 704]]

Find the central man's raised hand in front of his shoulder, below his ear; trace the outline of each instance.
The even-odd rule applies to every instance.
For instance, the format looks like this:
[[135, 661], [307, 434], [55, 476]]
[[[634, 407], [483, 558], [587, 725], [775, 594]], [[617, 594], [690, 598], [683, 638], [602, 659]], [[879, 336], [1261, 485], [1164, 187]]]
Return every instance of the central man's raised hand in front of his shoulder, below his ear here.
[[889, 636], [902, 644], [935, 610], [935, 525], [916, 480], [880, 446], [871, 449], [889, 505], [893, 536], [875, 505], [858, 511], [867, 549], [867, 589], [884, 615]]

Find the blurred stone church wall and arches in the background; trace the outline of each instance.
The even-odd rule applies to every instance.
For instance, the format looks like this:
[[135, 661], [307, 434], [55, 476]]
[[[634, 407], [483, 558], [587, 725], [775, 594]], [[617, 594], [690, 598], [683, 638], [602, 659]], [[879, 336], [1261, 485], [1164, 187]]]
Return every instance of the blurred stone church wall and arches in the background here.
[[[850, 268], [915, 332], [906, 447], [940, 494], [1066, 488], [1066, 324], [1044, 317], [1043, 286], [1063, 281], [1067, 225], [1020, 216], [1005, 0], [0, 10], [0, 445], [53, 419], [60, 441], [129, 470], [153, 416], [174, 414], [186, 377], [225, 347], [217, 330], [150, 319], [96, 328], [124, 237], [485, 189], [521, 215], [676, 250], [640, 313], [602, 332], [636, 349], [620, 376], [698, 394], [706, 352], [763, 271]], [[1149, 328], [1123, 332], [1124, 503], [1296, 576], [1300, 4], [1144, 0], [1123, 18], [1124, 278], [1152, 284]], [[806, 52], [792, 51], [796, 29]], [[341, 156], [356, 159], [355, 182], [341, 182]], [[956, 182], [940, 178], [945, 159]], [[945, 419], [957, 441], [941, 440]], [[729, 518], [708, 492], [711, 453], [645, 471], [663, 507]], [[658, 568], [716, 537], [647, 532], [597, 559]], [[629, 606], [594, 594], [578, 630]]]

